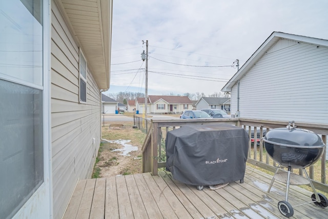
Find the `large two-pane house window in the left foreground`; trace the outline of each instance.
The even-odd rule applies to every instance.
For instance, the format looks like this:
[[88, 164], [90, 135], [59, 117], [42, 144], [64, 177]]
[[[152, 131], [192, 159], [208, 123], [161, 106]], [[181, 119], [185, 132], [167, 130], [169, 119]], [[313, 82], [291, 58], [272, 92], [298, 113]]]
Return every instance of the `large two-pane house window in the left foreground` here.
[[0, 3], [1, 218], [44, 183], [42, 3]]

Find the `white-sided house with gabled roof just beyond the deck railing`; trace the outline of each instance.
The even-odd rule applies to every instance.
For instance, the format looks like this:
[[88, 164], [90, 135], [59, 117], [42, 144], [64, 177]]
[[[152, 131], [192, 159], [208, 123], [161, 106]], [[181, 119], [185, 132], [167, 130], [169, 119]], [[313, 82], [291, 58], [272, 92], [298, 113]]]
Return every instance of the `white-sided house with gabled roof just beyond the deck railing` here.
[[221, 91], [239, 117], [327, 124], [327, 63], [328, 40], [273, 32]]

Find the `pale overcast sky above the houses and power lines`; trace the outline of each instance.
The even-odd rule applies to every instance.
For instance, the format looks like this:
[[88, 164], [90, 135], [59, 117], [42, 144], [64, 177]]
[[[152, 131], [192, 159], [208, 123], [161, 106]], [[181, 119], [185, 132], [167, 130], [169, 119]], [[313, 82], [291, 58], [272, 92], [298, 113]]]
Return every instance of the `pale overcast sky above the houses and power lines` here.
[[[114, 0], [107, 93], [219, 92], [274, 31], [328, 39], [328, 1]], [[142, 41], [145, 43], [142, 44]]]

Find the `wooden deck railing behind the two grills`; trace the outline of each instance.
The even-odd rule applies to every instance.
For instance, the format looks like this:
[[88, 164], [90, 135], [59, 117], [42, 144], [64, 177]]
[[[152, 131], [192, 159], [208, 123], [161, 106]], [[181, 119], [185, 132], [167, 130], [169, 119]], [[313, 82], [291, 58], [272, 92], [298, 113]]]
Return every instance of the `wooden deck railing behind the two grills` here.
[[[179, 128], [185, 125], [191, 124], [213, 124], [224, 123], [231, 124], [239, 127], [243, 127], [249, 133], [249, 154], [247, 162], [258, 166], [262, 169], [275, 172], [277, 164], [269, 157], [263, 147], [262, 138], [259, 139], [257, 147], [252, 147], [251, 130], [254, 130], [254, 143], [258, 141], [257, 132], [260, 132], [259, 136], [263, 136], [263, 131], [268, 132], [270, 129], [281, 128], [288, 126], [288, 122], [282, 121], [269, 121], [269, 120], [255, 120], [246, 118], [218, 118], [218, 119], [197, 119], [197, 120], [152, 120], [149, 132], [147, 133], [146, 140], [142, 146], [142, 172], [151, 172], [152, 175], [157, 175], [158, 168], [165, 167], [165, 138], [166, 134], [170, 130]], [[322, 137], [323, 142], [326, 144], [326, 136], [328, 135], [328, 125], [325, 124], [309, 124], [309, 123], [297, 123], [297, 128], [307, 129], [313, 131]], [[256, 144], [255, 144], [256, 145]], [[315, 164], [306, 168], [309, 172], [309, 176], [312, 179], [314, 186], [324, 192], [328, 192], [328, 185], [326, 182], [326, 148], [321, 157], [321, 165]], [[318, 161], [319, 162], [319, 161]], [[302, 169], [293, 170], [298, 171], [299, 175], [302, 175]], [[316, 174], [315, 174], [316, 173]], [[321, 177], [316, 177], [320, 175]]]

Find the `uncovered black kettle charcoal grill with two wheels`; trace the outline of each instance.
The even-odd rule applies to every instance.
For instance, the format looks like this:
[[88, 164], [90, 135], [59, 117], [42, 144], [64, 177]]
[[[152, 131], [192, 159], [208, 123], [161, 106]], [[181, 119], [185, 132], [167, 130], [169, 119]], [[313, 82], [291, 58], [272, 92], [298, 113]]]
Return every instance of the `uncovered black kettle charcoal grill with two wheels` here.
[[[290, 217], [294, 214], [292, 206], [288, 203], [289, 185], [292, 184], [291, 182], [293, 182], [294, 185], [302, 185], [304, 184], [304, 180], [306, 180], [302, 176], [291, 173], [292, 168], [300, 168], [304, 171], [307, 177], [307, 181], [305, 182], [307, 182], [306, 184], [310, 184], [314, 191], [312, 201], [321, 208], [327, 207], [327, 198], [316, 192], [305, 170], [306, 167], [316, 163], [322, 156], [325, 145], [319, 135], [309, 130], [297, 129], [294, 121], [292, 121], [286, 128], [270, 130], [263, 138], [263, 142], [267, 153], [279, 164], [268, 192], [270, 192], [275, 179], [284, 182], [281, 176], [287, 177], [285, 182], [287, 184], [285, 201], [280, 201], [278, 203], [279, 211], [286, 217]], [[278, 173], [279, 167], [281, 166], [287, 167], [288, 172]], [[294, 178], [292, 181], [291, 177]], [[299, 184], [298, 182], [302, 183]]]

